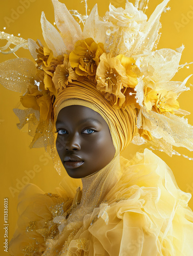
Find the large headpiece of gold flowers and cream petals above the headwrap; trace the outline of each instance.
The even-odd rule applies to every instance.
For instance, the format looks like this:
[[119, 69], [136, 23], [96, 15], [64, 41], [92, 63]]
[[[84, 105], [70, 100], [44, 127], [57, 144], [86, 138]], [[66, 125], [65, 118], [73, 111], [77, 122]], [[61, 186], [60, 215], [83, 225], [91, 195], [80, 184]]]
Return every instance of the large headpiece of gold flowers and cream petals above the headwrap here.
[[[99, 17], [97, 5], [90, 15], [72, 14], [65, 4], [52, 0], [58, 30], [41, 15], [42, 34], [46, 46], [38, 40], [28, 41], [0, 32], [7, 39], [4, 54], [14, 53], [20, 47], [29, 49], [36, 64], [29, 59], [15, 58], [0, 64], [0, 82], [8, 89], [24, 93], [20, 101], [25, 110], [15, 109], [22, 128], [29, 124], [33, 136], [31, 147], [53, 144], [53, 104], [58, 92], [73, 81], [89, 79], [104, 100], [114, 108], [132, 105], [138, 113], [138, 133], [135, 144], [147, 141], [168, 155], [172, 146], [193, 150], [193, 127], [189, 114], [181, 110], [177, 101], [183, 91], [189, 90], [183, 82], [171, 81], [179, 66], [184, 47], [176, 50], [156, 50], [161, 28], [160, 16], [169, 0], [158, 5], [151, 17], [143, 0], [135, 6], [126, 1], [125, 9], [110, 4], [104, 17]], [[85, 0], [87, 10], [87, 0]], [[79, 18], [83, 30], [73, 16]], [[10, 44], [15, 48], [7, 51]], [[185, 131], [184, 133], [182, 133]]]

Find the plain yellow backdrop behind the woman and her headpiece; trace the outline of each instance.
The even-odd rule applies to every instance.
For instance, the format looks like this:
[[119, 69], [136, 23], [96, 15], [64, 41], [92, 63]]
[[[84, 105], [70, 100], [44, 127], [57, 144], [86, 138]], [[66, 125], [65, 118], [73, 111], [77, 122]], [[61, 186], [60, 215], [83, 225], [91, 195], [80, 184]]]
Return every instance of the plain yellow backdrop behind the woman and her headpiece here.
[[[65, 3], [68, 9], [77, 9], [79, 12], [84, 13], [84, 4], [79, 0], [61, 0]], [[91, 9], [95, 3], [98, 4], [99, 15], [102, 16], [108, 10], [109, 3], [115, 7], [124, 7], [125, 0], [90, 0], [88, 3]], [[26, 6], [21, 8], [22, 3]], [[149, 8], [146, 14], [155, 9], [156, 5], [161, 3], [161, 0], [149, 0]], [[192, 0], [170, 0], [169, 6], [171, 11], [162, 15], [162, 36], [158, 45], [160, 48], [179, 48], [182, 44], [185, 45], [181, 63], [193, 61], [193, 3]], [[51, 0], [7, 0], [4, 1], [0, 10], [0, 31], [5, 31], [25, 39], [37, 38], [42, 40], [40, 15], [41, 11], [45, 12], [47, 19], [53, 24], [54, 13]], [[13, 13], [16, 11], [20, 14]], [[12, 21], [11, 21], [12, 19]], [[3, 28], [6, 27], [6, 30]], [[0, 46], [3, 46], [0, 42]], [[27, 50], [19, 50], [16, 53], [19, 57], [31, 58]], [[14, 55], [0, 55], [0, 62], [9, 58], [14, 58]], [[193, 65], [189, 69], [184, 68], [178, 72], [174, 80], [182, 81], [189, 74], [193, 73]], [[188, 83], [193, 83], [193, 78], [190, 78]], [[187, 83], [187, 86], [188, 86]], [[0, 100], [0, 134], [1, 134], [1, 215], [0, 215], [0, 254], [4, 255], [3, 242], [4, 229], [3, 229], [3, 208], [4, 198], [9, 199], [9, 240], [11, 239], [17, 220], [17, 196], [19, 190], [25, 182], [31, 182], [38, 185], [44, 191], [53, 191], [61, 179], [52, 166], [52, 160], [45, 154], [44, 149], [35, 148], [30, 150], [29, 144], [31, 138], [27, 133], [21, 132], [17, 129], [17, 117], [14, 115], [12, 109], [19, 107], [19, 93], [8, 91], [3, 86], [0, 86], [1, 100]], [[184, 92], [179, 97], [181, 109], [192, 112], [187, 116], [190, 124], [193, 125], [193, 88], [191, 91]], [[186, 131], [183, 131], [185, 133]], [[136, 151], [143, 152], [144, 146], [136, 146], [131, 144], [128, 146], [123, 156], [131, 158]], [[175, 148], [179, 153], [193, 157], [191, 152], [183, 148]], [[193, 161], [183, 158], [182, 156], [173, 156], [170, 158], [164, 153], [154, 152], [160, 156], [168, 166], [173, 170], [179, 187], [193, 194]], [[30, 172], [33, 170], [33, 172]], [[27, 173], [31, 174], [31, 178], [27, 178]], [[35, 175], [32, 175], [35, 174]], [[34, 177], [33, 177], [34, 176]], [[12, 193], [11, 193], [12, 190]], [[190, 200], [189, 206], [193, 209], [193, 200]], [[6, 255], [6, 253], [5, 253]]]

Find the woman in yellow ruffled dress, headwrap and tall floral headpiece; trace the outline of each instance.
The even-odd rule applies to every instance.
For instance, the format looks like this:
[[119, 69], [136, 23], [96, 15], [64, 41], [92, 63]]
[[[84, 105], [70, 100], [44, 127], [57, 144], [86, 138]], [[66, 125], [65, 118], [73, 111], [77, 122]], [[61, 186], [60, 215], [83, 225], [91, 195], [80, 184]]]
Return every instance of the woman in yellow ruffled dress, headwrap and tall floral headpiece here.
[[[11, 254], [191, 255], [189, 194], [178, 188], [166, 164], [151, 151], [138, 153], [131, 161], [119, 156], [132, 140], [140, 143], [144, 139], [165, 151], [169, 144], [192, 150], [192, 127], [175, 116], [180, 113], [177, 97], [187, 79], [180, 86], [170, 81], [183, 49], [152, 51], [159, 16], [167, 2], [160, 4], [148, 21], [142, 6], [137, 9], [138, 2], [136, 7], [126, 3], [125, 10], [110, 6], [108, 19], [94, 22], [95, 7], [83, 31], [83, 36], [90, 33], [95, 40], [77, 40], [82, 36], [79, 27], [65, 5], [55, 0], [63, 41], [43, 14], [44, 38], [52, 50], [30, 40], [37, 69], [29, 60], [14, 60], [22, 71], [16, 83], [11, 77], [6, 86], [15, 84], [20, 90], [28, 81], [21, 102], [29, 109], [21, 125], [36, 125], [31, 146], [42, 140], [48, 150], [51, 146], [55, 160], [51, 125], [56, 124], [60, 160], [71, 177], [82, 178], [82, 188], [74, 196], [77, 186], [68, 184], [67, 179], [60, 195], [26, 186], [19, 198], [20, 217]], [[69, 38], [63, 31], [66, 26], [61, 25], [67, 20]], [[130, 25], [126, 32], [125, 23]], [[115, 36], [123, 40], [117, 42]], [[96, 42], [99, 37], [104, 47]], [[7, 64], [10, 61], [3, 65]], [[186, 135], [174, 126], [177, 121], [186, 127]]]

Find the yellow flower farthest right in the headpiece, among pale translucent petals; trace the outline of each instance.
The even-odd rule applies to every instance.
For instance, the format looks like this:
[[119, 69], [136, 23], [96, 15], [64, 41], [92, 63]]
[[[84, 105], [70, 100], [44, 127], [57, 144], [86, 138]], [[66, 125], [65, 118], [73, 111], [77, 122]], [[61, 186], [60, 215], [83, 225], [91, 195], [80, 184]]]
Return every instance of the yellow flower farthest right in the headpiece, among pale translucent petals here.
[[158, 91], [146, 87], [144, 90], [144, 105], [147, 111], [153, 110], [159, 114], [165, 112], [174, 113], [173, 110], [180, 108], [179, 102], [177, 101], [178, 95], [165, 89]]

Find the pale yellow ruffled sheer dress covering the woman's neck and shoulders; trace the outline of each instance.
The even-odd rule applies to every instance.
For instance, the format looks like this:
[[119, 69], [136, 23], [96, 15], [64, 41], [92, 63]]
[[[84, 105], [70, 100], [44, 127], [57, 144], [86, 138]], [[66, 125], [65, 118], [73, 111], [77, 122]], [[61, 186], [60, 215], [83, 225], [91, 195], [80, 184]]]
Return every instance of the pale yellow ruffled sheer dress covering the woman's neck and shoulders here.
[[[193, 255], [191, 197], [169, 167], [145, 149], [115, 157], [98, 173], [62, 181], [58, 194], [27, 185], [19, 196], [11, 255]], [[75, 196], [74, 196], [75, 195]]]

